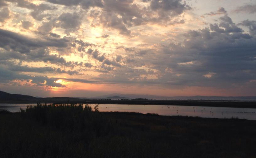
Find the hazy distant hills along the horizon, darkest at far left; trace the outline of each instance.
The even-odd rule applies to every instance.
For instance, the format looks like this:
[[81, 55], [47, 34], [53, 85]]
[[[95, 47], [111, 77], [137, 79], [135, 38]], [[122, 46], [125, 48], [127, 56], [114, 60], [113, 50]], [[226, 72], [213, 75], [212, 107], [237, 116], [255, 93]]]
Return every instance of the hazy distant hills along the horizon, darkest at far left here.
[[137, 98], [153, 99], [153, 100], [232, 100], [232, 101], [256, 101], [256, 96], [154, 96], [154, 95], [137, 95], [137, 94], [120, 94], [113, 93], [98, 97], [33, 97], [21, 94], [10, 94], [0, 91], [0, 101], [34, 101], [34, 102], [50, 102], [50, 101], [85, 101], [97, 99], [111, 100], [131, 100]]

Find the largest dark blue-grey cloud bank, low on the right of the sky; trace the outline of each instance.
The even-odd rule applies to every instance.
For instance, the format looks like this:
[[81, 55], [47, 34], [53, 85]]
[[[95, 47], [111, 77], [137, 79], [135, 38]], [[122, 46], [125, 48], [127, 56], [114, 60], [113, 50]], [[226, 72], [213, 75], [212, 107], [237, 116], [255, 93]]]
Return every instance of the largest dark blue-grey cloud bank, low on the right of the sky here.
[[[252, 26], [253, 22], [245, 21], [245, 24]], [[119, 68], [112, 70], [110, 73], [115, 74], [112, 80], [170, 86], [230, 87], [255, 79], [255, 37], [243, 32], [228, 16], [221, 17], [216, 26], [218, 29], [210, 27], [186, 32], [182, 44], [157, 45], [143, 51], [122, 48], [129, 54], [122, 59], [127, 67], [121, 67], [122, 71], [118, 71]], [[138, 52], [146, 55], [141, 56]], [[110, 61], [106, 63], [110, 64]], [[143, 65], [154, 71], [135, 69]], [[122, 75], [128, 79], [123, 79]]]

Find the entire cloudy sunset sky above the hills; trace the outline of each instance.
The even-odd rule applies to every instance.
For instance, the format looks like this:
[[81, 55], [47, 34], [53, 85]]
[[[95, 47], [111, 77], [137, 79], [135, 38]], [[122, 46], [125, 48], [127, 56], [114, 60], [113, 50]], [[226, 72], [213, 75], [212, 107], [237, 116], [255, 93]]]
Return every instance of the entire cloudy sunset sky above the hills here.
[[256, 0], [0, 0], [0, 90], [256, 96]]

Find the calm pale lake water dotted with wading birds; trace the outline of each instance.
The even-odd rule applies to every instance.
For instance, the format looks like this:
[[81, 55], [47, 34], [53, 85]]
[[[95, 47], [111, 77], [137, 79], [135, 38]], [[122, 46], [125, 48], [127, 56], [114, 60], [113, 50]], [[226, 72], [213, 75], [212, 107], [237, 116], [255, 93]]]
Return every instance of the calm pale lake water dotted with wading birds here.
[[[20, 108], [36, 104], [0, 104], [1, 110], [19, 112]], [[94, 104], [91, 105], [94, 107]], [[232, 107], [205, 106], [175, 106], [175, 105], [128, 105], [128, 104], [100, 104], [100, 111], [157, 113], [164, 116], [199, 116], [206, 118], [240, 118], [256, 120], [256, 109]]]

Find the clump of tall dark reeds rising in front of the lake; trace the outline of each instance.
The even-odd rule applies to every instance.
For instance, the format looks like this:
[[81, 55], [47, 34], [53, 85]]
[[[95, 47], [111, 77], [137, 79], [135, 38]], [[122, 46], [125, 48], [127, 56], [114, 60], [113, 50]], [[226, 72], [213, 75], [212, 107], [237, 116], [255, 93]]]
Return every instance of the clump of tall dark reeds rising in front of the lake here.
[[33, 119], [42, 125], [60, 130], [86, 131], [96, 136], [106, 135], [111, 123], [99, 112], [99, 104], [94, 109], [90, 104], [37, 104], [21, 109], [23, 117]]

